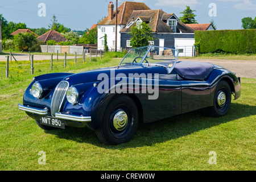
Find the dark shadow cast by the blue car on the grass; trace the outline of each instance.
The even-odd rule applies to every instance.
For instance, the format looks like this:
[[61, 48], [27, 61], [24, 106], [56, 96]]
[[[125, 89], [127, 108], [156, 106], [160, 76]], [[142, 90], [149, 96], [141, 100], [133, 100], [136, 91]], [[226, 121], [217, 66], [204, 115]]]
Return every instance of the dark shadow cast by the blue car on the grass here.
[[98, 147], [108, 149], [124, 149], [142, 146], [151, 146], [155, 143], [166, 142], [168, 140], [180, 138], [195, 133], [196, 131], [208, 129], [222, 123], [233, 121], [243, 117], [256, 114], [256, 106], [231, 104], [229, 113], [224, 117], [209, 117], [205, 109], [193, 111], [191, 113], [178, 115], [176, 117], [162, 119], [147, 125], [139, 125], [136, 134], [130, 142], [117, 146], [107, 146], [98, 140], [94, 131], [85, 128], [78, 129], [67, 127], [65, 130], [46, 131], [59, 138], [74, 140], [79, 143], [90, 143]]

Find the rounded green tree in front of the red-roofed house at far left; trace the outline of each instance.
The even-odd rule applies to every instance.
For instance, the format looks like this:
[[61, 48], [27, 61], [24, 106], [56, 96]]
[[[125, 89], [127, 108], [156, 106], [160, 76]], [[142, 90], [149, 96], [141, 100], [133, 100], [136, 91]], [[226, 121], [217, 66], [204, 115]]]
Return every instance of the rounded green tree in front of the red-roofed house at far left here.
[[37, 43], [36, 37], [31, 33], [19, 33], [14, 35], [14, 44], [19, 51], [30, 51], [33, 45]]

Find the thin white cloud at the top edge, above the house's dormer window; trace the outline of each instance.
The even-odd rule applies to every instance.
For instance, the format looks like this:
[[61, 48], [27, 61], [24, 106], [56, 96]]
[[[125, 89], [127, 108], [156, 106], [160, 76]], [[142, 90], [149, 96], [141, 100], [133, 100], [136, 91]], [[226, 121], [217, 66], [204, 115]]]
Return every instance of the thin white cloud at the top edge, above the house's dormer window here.
[[170, 6], [170, 7], [184, 7], [199, 5], [200, 3], [197, 0], [157, 0], [155, 3], [156, 6]]

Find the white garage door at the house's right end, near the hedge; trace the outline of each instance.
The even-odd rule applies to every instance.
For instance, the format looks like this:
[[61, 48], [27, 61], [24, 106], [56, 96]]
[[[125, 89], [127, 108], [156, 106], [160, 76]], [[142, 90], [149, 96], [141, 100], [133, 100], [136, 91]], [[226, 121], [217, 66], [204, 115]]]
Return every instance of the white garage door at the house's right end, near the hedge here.
[[174, 39], [175, 49], [179, 50], [179, 56], [194, 56], [195, 53], [195, 39], [186, 39], [186, 38], [175, 38]]

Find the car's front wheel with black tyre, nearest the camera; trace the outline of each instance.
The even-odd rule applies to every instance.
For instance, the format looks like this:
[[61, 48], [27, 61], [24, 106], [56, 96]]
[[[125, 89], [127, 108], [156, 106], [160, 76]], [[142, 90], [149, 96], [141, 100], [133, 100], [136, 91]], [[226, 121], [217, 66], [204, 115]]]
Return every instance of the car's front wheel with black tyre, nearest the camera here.
[[134, 101], [126, 95], [116, 96], [105, 110], [98, 139], [105, 144], [128, 142], [138, 127], [138, 110]]

